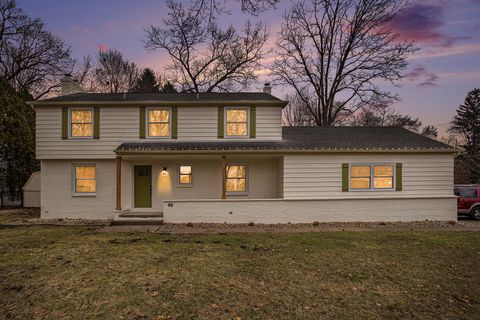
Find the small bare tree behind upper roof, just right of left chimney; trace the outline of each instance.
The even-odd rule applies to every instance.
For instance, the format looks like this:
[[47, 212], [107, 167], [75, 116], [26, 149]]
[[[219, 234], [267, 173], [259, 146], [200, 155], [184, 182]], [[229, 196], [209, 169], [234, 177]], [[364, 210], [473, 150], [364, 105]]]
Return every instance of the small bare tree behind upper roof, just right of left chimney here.
[[108, 49], [99, 51], [93, 74], [93, 89], [97, 92], [128, 92], [140, 75], [140, 69], [133, 62], [124, 59], [120, 51]]

